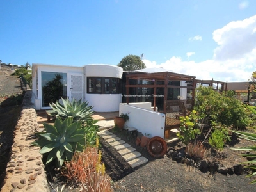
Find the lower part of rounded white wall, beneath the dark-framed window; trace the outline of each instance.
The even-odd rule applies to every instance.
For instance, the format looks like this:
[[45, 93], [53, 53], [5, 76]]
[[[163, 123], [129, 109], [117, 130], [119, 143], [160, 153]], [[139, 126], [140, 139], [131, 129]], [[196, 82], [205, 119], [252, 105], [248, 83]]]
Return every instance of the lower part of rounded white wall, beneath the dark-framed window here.
[[118, 111], [122, 102], [121, 94], [86, 94], [85, 100], [93, 106], [95, 112]]

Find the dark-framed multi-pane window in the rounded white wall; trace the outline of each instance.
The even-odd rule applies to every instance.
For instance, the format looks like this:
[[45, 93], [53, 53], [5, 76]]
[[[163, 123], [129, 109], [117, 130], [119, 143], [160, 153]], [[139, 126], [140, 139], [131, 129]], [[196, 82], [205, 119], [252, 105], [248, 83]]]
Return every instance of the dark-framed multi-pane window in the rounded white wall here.
[[118, 94], [119, 79], [110, 77], [87, 77], [87, 93]]

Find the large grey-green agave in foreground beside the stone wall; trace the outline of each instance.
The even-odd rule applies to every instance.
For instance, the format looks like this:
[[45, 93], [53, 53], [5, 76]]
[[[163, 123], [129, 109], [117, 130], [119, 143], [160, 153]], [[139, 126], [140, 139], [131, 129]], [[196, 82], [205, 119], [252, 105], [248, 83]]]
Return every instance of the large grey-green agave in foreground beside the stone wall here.
[[64, 161], [72, 159], [75, 151], [83, 151], [86, 129], [81, 123], [73, 122], [72, 117], [65, 120], [57, 117], [54, 125], [44, 124], [46, 132], [39, 132], [39, 139], [32, 144], [42, 147], [40, 153], [47, 156], [46, 164], [56, 159], [61, 167]]

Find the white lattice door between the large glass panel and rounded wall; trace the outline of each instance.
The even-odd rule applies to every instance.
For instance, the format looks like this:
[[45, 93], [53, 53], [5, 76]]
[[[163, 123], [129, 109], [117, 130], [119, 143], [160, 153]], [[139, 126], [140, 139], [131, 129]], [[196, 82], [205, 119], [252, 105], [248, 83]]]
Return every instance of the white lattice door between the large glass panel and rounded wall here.
[[84, 86], [83, 86], [83, 74], [70, 74], [68, 73], [68, 97], [72, 101], [76, 99], [82, 99], [84, 96]]

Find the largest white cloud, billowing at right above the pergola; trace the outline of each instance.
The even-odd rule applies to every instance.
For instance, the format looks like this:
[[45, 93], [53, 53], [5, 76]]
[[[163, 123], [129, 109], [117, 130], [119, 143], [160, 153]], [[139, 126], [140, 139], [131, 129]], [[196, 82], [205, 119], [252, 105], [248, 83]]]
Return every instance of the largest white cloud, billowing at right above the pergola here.
[[[147, 68], [163, 67], [173, 72], [196, 76], [196, 79], [247, 81], [256, 70], [256, 15], [230, 22], [213, 32], [217, 47], [211, 60], [196, 63], [172, 56], [164, 63], [143, 60]], [[188, 58], [195, 52], [187, 52]]]

